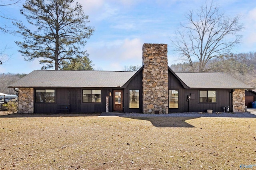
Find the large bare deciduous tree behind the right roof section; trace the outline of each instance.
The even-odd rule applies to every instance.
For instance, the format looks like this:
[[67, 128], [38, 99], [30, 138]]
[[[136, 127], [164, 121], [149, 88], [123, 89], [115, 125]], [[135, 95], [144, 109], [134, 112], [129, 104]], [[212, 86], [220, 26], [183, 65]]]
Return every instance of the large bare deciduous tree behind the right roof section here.
[[[206, 72], [206, 63], [214, 58], [228, 56], [231, 49], [240, 43], [243, 29], [240, 16], [228, 17], [213, 4], [205, 4], [196, 12], [186, 15], [187, 24], [177, 31], [172, 41], [176, 52], [183, 61], [188, 62], [192, 71]], [[196, 61], [196, 65], [194, 62]]]

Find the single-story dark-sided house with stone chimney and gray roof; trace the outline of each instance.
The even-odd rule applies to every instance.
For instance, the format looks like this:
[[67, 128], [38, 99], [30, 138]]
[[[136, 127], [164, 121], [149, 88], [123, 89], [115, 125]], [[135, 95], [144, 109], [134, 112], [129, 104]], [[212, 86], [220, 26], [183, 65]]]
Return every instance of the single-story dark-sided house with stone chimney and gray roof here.
[[224, 73], [174, 72], [167, 44], [144, 44], [137, 72], [34, 70], [19, 88], [18, 113], [245, 111], [252, 87]]

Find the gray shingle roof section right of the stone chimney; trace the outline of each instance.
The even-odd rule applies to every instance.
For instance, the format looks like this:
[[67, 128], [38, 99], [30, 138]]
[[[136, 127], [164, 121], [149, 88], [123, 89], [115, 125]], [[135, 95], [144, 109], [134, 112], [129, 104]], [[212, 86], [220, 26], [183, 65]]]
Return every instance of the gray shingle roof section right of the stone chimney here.
[[189, 88], [254, 89], [226, 73], [175, 72]]

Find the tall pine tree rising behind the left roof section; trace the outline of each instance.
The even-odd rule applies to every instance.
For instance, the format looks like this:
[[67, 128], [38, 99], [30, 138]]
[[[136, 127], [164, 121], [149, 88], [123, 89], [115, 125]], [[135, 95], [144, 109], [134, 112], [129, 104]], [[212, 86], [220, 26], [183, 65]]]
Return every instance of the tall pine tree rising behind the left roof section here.
[[15, 23], [24, 41], [16, 41], [26, 61], [39, 58], [42, 69], [62, 68], [65, 62], [88, 56], [81, 47], [92, 35], [88, 16], [74, 0], [26, 0], [21, 14], [29, 25]]

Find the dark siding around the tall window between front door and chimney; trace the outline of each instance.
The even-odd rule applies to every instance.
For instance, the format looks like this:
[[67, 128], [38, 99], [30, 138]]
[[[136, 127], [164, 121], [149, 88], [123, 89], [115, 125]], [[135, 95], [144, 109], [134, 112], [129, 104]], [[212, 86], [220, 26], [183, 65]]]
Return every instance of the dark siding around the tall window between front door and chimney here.
[[[129, 108], [129, 90], [140, 90], [140, 108]], [[124, 89], [124, 112], [142, 113], [142, 70], [132, 78], [128, 86]]]

